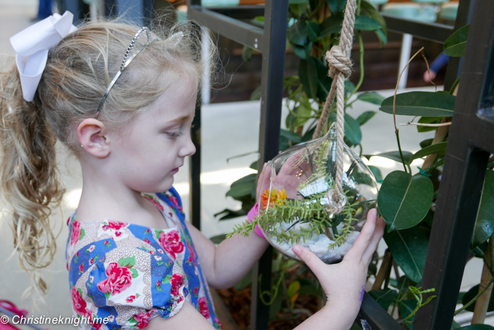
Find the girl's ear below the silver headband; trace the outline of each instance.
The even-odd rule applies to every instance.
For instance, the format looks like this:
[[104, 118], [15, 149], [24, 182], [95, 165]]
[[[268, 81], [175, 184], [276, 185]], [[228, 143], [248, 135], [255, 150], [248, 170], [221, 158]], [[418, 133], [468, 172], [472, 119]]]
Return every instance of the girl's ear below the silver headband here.
[[107, 157], [110, 153], [110, 144], [107, 140], [107, 129], [104, 123], [95, 118], [86, 118], [77, 128], [80, 146], [97, 158]]

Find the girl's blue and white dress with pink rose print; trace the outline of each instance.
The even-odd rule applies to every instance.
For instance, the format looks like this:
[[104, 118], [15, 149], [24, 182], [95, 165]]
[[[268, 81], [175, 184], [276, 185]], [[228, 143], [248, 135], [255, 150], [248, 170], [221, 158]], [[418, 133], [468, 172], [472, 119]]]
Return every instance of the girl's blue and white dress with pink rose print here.
[[168, 229], [112, 220], [79, 222], [76, 213], [68, 219], [66, 259], [80, 328], [143, 329], [153, 317], [172, 317], [187, 300], [222, 329], [179, 194], [171, 188], [143, 196], [162, 212]]

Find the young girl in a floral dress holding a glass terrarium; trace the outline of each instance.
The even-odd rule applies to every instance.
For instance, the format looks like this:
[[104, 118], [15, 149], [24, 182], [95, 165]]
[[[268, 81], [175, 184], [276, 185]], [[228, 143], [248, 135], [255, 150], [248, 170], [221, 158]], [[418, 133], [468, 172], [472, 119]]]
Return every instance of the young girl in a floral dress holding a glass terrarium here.
[[[83, 171], [66, 247], [81, 327], [220, 329], [208, 286], [233, 286], [268, 243], [252, 234], [215, 246], [185, 221], [172, 188], [174, 174], [195, 152], [190, 129], [203, 65], [194, 32], [153, 33], [112, 22], [76, 30], [68, 18], [52, 16], [13, 37], [17, 63], [0, 80], [1, 183], [13, 208], [20, 262], [45, 291], [38, 270], [55, 250], [49, 207], [63, 195], [58, 139]], [[35, 46], [25, 45], [31, 39]], [[327, 294], [325, 307], [297, 329], [350, 328], [382, 237], [384, 223], [376, 218], [371, 211], [339, 264], [293, 248]]]

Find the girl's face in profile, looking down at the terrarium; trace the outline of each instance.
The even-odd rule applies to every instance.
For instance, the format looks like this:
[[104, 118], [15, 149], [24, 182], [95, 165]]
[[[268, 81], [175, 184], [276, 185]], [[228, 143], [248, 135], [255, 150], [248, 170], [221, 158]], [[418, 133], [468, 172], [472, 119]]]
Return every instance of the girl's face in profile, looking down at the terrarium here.
[[171, 188], [184, 158], [195, 153], [191, 123], [196, 94], [195, 80], [182, 75], [110, 141], [109, 161], [117, 179], [137, 192], [160, 193]]

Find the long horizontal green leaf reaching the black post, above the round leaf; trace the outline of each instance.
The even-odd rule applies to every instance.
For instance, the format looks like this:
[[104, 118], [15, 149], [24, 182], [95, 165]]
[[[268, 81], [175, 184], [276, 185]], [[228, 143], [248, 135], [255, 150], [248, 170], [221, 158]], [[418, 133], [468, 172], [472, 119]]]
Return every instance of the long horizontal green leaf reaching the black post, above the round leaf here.
[[[423, 117], [451, 117], [456, 97], [445, 93], [408, 92], [397, 94], [396, 114]], [[393, 97], [388, 97], [380, 106], [387, 114], [393, 113]]]

